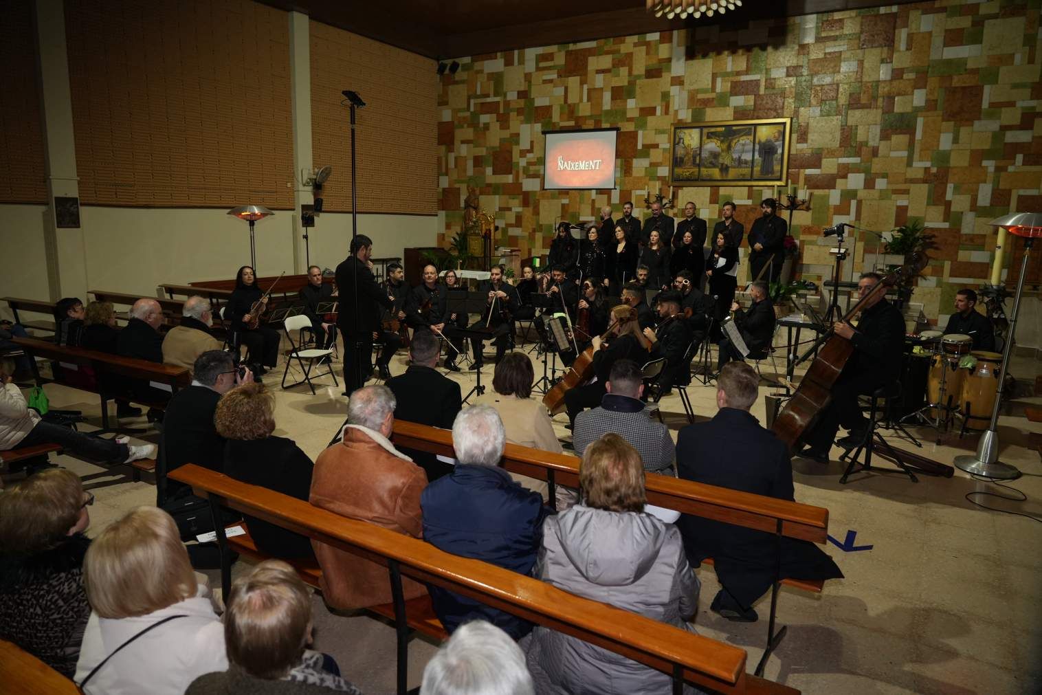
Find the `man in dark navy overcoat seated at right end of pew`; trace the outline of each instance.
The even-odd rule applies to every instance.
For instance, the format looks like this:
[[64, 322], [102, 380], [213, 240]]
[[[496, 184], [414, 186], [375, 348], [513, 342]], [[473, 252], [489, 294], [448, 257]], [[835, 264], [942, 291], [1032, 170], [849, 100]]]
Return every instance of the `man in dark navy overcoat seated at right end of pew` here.
[[[708, 422], [680, 430], [676, 442], [679, 475], [704, 482], [778, 499], [793, 499], [792, 465], [786, 445], [749, 414], [756, 400], [760, 377], [745, 363], [730, 363], [717, 379], [719, 411]], [[836, 563], [810, 541], [734, 526], [721, 521], [684, 515], [677, 522], [691, 565], [713, 557], [722, 587], [710, 609], [724, 618], [753, 622], [752, 603], [775, 578], [830, 579], [842, 577]], [[780, 542], [780, 565], [778, 543]]]

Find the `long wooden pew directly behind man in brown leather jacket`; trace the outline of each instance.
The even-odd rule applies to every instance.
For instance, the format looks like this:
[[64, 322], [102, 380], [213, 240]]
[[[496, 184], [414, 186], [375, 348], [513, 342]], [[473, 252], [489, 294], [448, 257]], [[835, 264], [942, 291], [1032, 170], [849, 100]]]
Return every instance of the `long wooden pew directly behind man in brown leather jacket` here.
[[[745, 672], [746, 653], [738, 647], [694, 635], [621, 609], [569, 594], [532, 577], [477, 560], [449, 554], [419, 539], [375, 524], [348, 519], [266, 488], [240, 482], [192, 464], [170, 472], [208, 498], [215, 518], [221, 505], [327, 543], [388, 568], [398, 637], [398, 692], [405, 693], [408, 620], [401, 577], [469, 596], [539, 625], [573, 636], [635, 660], [673, 677], [673, 691], [684, 682], [723, 693], [795, 693]], [[224, 528], [218, 545], [228, 556]], [[222, 562], [227, 595], [230, 567]]]

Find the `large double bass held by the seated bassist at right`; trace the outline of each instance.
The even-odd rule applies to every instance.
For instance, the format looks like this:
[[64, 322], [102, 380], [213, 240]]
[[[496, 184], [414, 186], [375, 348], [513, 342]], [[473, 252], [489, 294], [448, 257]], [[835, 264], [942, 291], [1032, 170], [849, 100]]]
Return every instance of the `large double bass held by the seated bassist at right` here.
[[[911, 280], [926, 267], [926, 256], [921, 253], [911, 254], [907, 265], [890, 273], [861, 298], [841, 319], [849, 323], [862, 307], [879, 294], [885, 294], [887, 288], [893, 287], [899, 280]], [[811, 428], [818, 415], [832, 401], [832, 390], [843, 371], [847, 359], [853, 353], [853, 343], [838, 336], [829, 329], [824, 333], [819, 344], [823, 342], [807, 374], [803, 376], [795, 393], [786, 403], [782, 413], [774, 419], [771, 429], [779, 440], [786, 443], [790, 451], [803, 435]]]

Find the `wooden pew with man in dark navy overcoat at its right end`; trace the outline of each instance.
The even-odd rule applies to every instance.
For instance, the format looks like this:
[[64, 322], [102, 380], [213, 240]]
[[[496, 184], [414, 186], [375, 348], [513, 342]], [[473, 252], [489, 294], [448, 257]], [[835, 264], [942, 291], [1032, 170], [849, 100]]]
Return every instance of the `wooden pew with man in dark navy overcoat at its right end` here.
[[[395, 446], [455, 456], [452, 432], [414, 422], [396, 420], [391, 437]], [[579, 487], [579, 460], [570, 454], [551, 453], [541, 449], [507, 444], [502, 467], [538, 480], [546, 480], [550, 503], [555, 503], [555, 487]], [[705, 519], [714, 519], [746, 528], [824, 545], [828, 535], [828, 510], [774, 497], [718, 488], [702, 482], [681, 480], [668, 475], [650, 474], [645, 483], [648, 504], [674, 510]], [[710, 563], [706, 563], [710, 564]], [[771, 612], [767, 625], [767, 645], [756, 665], [762, 675], [771, 652], [782, 642], [787, 627], [774, 629], [777, 596], [782, 586], [821, 593], [823, 581], [782, 579], [771, 587]]]

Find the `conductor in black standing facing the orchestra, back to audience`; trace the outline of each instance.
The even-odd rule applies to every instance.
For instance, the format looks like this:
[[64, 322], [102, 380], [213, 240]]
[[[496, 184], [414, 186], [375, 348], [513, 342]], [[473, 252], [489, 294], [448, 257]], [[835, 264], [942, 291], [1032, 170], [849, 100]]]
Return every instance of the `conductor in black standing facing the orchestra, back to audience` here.
[[[394, 304], [373, 277], [373, 242], [365, 234], [351, 240], [351, 255], [337, 266], [340, 312], [337, 327], [344, 333], [344, 393], [361, 389], [372, 376], [373, 341], [380, 331], [380, 314]], [[370, 368], [371, 370], [371, 368]]]

